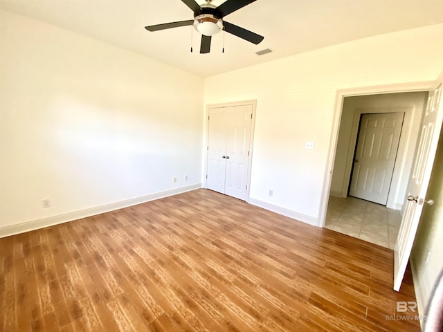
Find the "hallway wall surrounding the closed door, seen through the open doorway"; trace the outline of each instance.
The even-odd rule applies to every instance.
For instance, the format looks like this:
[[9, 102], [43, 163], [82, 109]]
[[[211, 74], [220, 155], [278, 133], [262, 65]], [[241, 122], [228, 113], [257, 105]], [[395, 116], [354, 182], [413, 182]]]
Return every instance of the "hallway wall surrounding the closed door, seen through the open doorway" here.
[[332, 172], [332, 196], [345, 197], [350, 182], [352, 160], [360, 113], [386, 113], [405, 111], [397, 160], [392, 174], [388, 208], [400, 210], [404, 204], [406, 190], [419, 134], [420, 122], [428, 93], [384, 93], [358, 95], [345, 98], [338, 134], [334, 171]]

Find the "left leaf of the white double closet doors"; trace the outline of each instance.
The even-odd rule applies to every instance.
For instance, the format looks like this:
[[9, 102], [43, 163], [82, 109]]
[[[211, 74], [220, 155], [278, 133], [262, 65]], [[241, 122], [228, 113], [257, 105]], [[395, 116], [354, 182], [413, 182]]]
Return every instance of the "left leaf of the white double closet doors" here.
[[224, 109], [210, 110], [208, 136], [208, 179], [210, 190], [224, 194], [226, 176], [226, 117]]

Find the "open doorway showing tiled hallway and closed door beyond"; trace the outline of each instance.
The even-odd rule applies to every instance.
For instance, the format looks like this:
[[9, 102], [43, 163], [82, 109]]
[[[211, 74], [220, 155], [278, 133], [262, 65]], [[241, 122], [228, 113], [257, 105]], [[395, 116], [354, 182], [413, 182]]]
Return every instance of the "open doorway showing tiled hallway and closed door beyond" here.
[[344, 98], [325, 228], [394, 248], [427, 95]]

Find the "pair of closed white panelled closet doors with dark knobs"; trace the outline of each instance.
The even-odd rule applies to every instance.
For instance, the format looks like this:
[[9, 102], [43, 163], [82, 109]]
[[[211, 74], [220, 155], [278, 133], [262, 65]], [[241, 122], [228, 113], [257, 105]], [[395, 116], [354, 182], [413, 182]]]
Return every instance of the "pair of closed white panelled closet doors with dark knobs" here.
[[208, 189], [248, 198], [252, 114], [252, 104], [209, 110]]

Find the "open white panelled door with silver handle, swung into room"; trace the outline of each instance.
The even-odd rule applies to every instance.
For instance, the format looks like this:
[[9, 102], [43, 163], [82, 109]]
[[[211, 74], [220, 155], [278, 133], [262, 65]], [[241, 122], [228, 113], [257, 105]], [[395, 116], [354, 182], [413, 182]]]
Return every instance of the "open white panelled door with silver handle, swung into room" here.
[[399, 291], [406, 266], [413, 248], [415, 233], [422, 215], [423, 204], [426, 203], [426, 191], [431, 178], [432, 167], [437, 151], [440, 130], [442, 129], [443, 103], [442, 94], [443, 73], [429, 91], [426, 113], [422, 122], [422, 133], [415, 157], [413, 174], [408, 188], [408, 201], [401, 220], [399, 237], [394, 252], [394, 290]]

